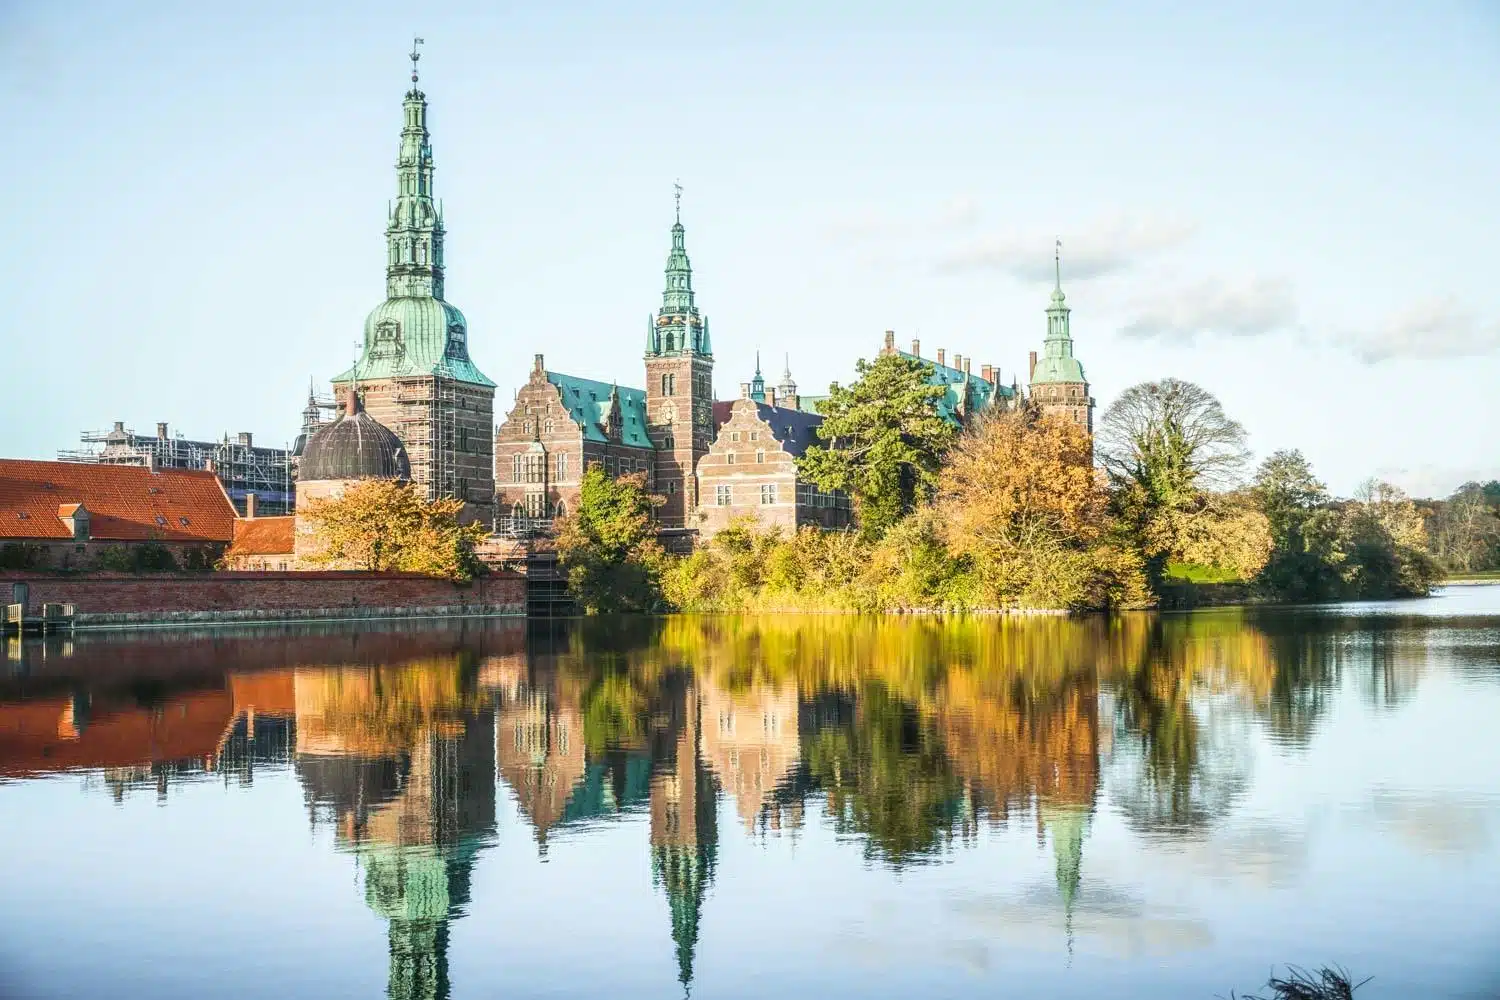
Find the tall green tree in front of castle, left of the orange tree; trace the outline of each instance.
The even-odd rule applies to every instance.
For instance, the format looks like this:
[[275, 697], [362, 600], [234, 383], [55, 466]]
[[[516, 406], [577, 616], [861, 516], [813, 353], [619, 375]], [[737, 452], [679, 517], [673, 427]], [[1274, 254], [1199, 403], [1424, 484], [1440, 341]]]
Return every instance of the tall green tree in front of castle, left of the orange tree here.
[[932, 495], [956, 427], [938, 414], [948, 387], [928, 384], [930, 364], [882, 354], [856, 370], [819, 405], [822, 442], [798, 468], [820, 489], [849, 493], [861, 532], [879, 538]]

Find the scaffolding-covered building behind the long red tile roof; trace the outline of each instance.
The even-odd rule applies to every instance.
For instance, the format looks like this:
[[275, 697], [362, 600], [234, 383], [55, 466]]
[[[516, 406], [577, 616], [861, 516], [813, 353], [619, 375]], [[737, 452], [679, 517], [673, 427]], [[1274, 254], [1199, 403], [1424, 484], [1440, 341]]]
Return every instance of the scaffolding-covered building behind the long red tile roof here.
[[254, 444], [248, 430], [222, 441], [189, 441], [156, 424], [156, 436], [138, 435], [114, 421], [110, 430], [84, 430], [82, 448], [57, 453], [58, 462], [134, 465], [158, 469], [212, 469], [236, 510], [246, 513], [246, 495], [255, 493], [256, 511], [290, 514], [292, 508], [291, 451]]

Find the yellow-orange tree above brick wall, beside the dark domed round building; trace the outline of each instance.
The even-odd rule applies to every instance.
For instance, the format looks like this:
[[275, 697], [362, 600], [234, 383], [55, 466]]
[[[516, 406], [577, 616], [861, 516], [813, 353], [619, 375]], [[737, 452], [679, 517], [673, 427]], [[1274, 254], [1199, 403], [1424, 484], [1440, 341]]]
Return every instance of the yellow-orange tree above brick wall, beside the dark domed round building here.
[[429, 501], [411, 483], [362, 480], [342, 496], [312, 501], [302, 514], [318, 546], [309, 561], [470, 580], [480, 570], [474, 544], [484, 526], [459, 525], [462, 510], [464, 501]]

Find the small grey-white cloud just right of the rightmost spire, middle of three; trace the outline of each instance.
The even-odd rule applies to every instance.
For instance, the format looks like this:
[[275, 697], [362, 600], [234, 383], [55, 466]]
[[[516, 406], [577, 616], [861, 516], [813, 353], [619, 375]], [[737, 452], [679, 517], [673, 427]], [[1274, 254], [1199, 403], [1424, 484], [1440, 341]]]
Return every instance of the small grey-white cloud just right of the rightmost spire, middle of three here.
[[1198, 334], [1257, 337], [1292, 327], [1298, 303], [1280, 277], [1244, 282], [1204, 279], [1138, 304], [1120, 333], [1126, 337], [1188, 342]]

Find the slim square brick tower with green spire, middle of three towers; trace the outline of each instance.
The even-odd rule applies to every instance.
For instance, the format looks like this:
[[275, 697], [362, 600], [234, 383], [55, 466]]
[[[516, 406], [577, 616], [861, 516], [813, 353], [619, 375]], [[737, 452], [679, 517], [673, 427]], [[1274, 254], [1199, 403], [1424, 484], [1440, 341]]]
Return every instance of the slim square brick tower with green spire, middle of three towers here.
[[663, 528], [687, 528], [698, 508], [698, 460], [714, 436], [714, 348], [693, 303], [693, 267], [682, 229], [682, 186], [666, 258], [662, 309], [646, 330], [646, 433], [656, 447]]

